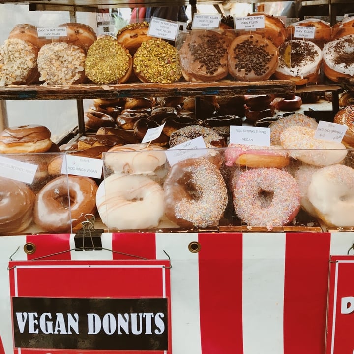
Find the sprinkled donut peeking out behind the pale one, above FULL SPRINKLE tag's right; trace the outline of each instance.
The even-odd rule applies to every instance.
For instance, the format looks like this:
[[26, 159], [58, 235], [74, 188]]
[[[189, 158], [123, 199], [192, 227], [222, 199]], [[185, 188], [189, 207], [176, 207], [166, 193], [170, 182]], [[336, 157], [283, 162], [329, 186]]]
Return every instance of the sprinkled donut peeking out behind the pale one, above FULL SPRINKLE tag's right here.
[[289, 114], [269, 124], [270, 144], [280, 145], [280, 134], [286, 128], [292, 127], [293, 125], [308, 127], [312, 129], [317, 128], [317, 122], [315, 119], [301, 113]]

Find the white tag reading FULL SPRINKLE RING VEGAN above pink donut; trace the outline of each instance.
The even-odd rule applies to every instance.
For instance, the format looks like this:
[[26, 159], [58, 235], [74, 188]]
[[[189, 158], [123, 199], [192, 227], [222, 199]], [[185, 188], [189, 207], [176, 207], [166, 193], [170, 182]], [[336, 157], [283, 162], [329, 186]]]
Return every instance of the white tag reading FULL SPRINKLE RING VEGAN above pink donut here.
[[270, 146], [270, 128], [230, 126], [230, 143]]

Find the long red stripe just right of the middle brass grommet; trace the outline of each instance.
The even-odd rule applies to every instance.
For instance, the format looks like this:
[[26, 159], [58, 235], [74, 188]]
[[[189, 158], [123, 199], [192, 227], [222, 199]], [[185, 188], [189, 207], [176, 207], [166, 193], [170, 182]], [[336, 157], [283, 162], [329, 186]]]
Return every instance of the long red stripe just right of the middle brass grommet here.
[[203, 354], [242, 354], [242, 234], [199, 234]]

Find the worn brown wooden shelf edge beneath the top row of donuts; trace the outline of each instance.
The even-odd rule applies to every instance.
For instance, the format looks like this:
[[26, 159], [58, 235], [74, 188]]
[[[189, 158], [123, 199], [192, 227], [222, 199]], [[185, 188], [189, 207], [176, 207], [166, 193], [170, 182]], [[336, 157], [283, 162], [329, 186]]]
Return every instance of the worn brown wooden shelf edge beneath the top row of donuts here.
[[120, 85], [5, 86], [0, 100], [71, 100], [116, 97], [169, 97], [203, 95], [292, 94], [288, 80], [260, 82], [177, 82], [172, 84], [124, 83]]

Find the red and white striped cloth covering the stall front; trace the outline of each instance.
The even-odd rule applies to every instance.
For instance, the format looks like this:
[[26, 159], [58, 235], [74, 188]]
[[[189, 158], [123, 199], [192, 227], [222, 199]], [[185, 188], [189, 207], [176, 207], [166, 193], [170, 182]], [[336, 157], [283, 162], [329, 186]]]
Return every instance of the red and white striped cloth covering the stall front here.
[[7, 265], [18, 247], [13, 260], [167, 259], [165, 251], [173, 354], [324, 354], [329, 257], [353, 242], [354, 233], [104, 233], [106, 250], [75, 251], [70, 234], [1, 237], [0, 354], [13, 353]]

